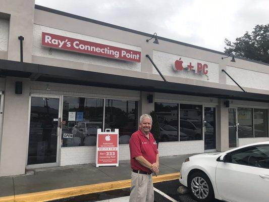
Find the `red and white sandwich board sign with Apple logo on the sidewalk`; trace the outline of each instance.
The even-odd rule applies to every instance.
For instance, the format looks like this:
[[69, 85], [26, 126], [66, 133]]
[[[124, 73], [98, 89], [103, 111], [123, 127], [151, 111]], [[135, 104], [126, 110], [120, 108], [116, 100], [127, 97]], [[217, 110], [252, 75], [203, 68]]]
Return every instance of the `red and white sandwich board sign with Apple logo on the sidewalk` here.
[[97, 129], [96, 139], [96, 167], [119, 166], [119, 129], [111, 132], [111, 129]]

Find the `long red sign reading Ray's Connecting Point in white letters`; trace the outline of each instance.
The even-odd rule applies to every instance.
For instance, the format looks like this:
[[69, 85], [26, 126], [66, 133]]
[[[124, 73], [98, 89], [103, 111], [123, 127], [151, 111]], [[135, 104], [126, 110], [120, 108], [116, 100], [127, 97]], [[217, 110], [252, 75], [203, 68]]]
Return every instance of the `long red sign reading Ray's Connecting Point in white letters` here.
[[141, 52], [126, 48], [42, 32], [42, 45], [94, 56], [141, 62]]

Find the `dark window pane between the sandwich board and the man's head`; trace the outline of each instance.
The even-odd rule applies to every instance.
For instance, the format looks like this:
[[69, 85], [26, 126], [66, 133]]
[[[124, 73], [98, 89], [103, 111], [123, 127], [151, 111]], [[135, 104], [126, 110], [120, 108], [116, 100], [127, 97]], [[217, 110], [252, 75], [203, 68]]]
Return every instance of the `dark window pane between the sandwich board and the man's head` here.
[[129, 144], [138, 128], [137, 113], [137, 101], [105, 99], [104, 129], [119, 128], [119, 144]]

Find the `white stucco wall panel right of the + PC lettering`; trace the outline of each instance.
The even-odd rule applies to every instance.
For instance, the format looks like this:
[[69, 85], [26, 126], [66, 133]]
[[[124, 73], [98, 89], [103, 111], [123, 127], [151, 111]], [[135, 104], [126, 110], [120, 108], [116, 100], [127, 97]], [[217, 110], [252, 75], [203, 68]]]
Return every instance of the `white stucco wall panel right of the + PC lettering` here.
[[[269, 74], [226, 66], [227, 73], [242, 87], [268, 90]], [[236, 85], [229, 77], [226, 83]]]

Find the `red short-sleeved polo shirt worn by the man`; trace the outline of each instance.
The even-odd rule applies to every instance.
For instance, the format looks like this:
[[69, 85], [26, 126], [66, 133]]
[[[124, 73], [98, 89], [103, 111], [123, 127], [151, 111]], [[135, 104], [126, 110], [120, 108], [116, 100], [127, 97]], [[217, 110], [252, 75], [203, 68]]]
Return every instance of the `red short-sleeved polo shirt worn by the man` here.
[[156, 154], [158, 154], [158, 149], [157, 149], [157, 143], [153, 135], [149, 133], [149, 139], [148, 139], [142, 133], [141, 130], [138, 130], [132, 134], [129, 146], [131, 155], [131, 168], [151, 173], [150, 169], [139, 164], [135, 160], [135, 157], [142, 156], [151, 164], [156, 162]]

